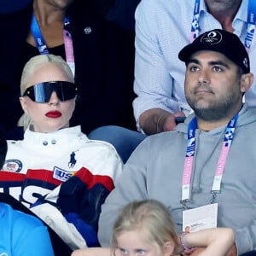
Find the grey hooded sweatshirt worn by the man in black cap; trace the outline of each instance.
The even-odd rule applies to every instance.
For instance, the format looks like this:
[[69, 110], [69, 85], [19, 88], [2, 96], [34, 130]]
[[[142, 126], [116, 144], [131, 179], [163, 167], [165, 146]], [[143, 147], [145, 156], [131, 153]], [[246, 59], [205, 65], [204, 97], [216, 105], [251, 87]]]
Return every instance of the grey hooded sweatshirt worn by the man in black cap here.
[[[131, 154], [115, 189], [102, 206], [99, 241], [109, 246], [113, 223], [128, 202], [153, 198], [163, 202], [182, 231], [183, 164], [189, 115], [176, 131], [147, 137]], [[195, 160], [189, 208], [210, 203], [211, 189], [226, 125], [212, 131], [196, 130]], [[238, 254], [256, 249], [256, 109], [244, 105], [236, 123], [218, 194], [218, 227], [236, 231]]]

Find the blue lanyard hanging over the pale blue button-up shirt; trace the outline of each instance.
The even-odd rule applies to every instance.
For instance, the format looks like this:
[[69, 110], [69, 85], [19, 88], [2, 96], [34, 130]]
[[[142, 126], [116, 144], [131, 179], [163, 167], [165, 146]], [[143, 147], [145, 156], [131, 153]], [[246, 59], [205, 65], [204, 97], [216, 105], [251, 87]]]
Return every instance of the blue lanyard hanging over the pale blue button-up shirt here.
[[[248, 0], [248, 9], [247, 9], [247, 34], [244, 41], [244, 46], [249, 52], [252, 41], [253, 35], [256, 26], [256, 1], [255, 0]], [[197, 38], [201, 32], [200, 24], [199, 24], [199, 13], [200, 13], [200, 0], [195, 0], [195, 7], [194, 7], [194, 15], [191, 24], [191, 33], [190, 33], [190, 43], [192, 43], [195, 38]]]

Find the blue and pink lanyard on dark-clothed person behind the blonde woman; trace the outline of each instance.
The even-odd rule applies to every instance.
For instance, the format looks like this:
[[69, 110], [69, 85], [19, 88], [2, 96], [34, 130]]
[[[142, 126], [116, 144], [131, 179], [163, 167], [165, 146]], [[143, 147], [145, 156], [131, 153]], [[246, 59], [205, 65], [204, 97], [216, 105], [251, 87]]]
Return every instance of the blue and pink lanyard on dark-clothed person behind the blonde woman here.
[[[66, 17], [64, 20], [64, 28], [63, 28], [63, 39], [65, 45], [65, 54], [66, 54], [66, 61], [68, 66], [71, 68], [73, 75], [75, 69], [74, 63], [74, 56], [73, 56], [73, 40], [71, 33], [68, 32], [67, 27], [69, 26], [70, 22], [69, 19]], [[31, 31], [32, 35], [35, 39], [35, 42], [38, 47], [38, 51], [41, 55], [49, 55], [49, 50], [45, 44], [44, 37], [38, 25], [38, 20], [36, 20], [35, 15], [32, 15], [32, 24], [31, 24]]]

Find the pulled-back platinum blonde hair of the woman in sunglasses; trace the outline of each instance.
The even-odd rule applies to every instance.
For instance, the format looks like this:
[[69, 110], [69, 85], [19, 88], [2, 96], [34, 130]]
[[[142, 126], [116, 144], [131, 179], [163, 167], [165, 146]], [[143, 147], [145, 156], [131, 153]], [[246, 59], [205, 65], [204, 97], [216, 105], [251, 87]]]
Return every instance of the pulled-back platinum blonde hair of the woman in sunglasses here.
[[[25, 67], [23, 68], [20, 79], [20, 96], [23, 96], [26, 88], [32, 85], [27, 84], [28, 80], [32, 76], [32, 73], [34, 73], [39, 67], [42, 67], [44, 66], [44, 64], [47, 63], [53, 63], [58, 67], [61, 67], [61, 69], [67, 74], [67, 77], [70, 79], [70, 81], [74, 83], [72, 70], [68, 66], [67, 62], [61, 58], [61, 56], [36, 55], [32, 57], [29, 61], [27, 61]], [[20, 117], [20, 120], [18, 121], [18, 126], [23, 126], [24, 130], [26, 130], [26, 128], [30, 124], [30, 117], [26, 113], [23, 113], [23, 115]]]

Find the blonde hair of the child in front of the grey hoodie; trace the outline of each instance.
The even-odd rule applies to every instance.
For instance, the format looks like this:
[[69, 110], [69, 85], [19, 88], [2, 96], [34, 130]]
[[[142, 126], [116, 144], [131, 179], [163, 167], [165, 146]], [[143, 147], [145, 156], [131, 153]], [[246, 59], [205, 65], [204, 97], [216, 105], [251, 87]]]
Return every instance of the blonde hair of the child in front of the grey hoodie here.
[[160, 251], [167, 241], [172, 241], [174, 250], [180, 251], [171, 214], [160, 201], [133, 201], [124, 207], [113, 226], [113, 253], [118, 247], [119, 236], [132, 230], [142, 230], [145, 239]]

